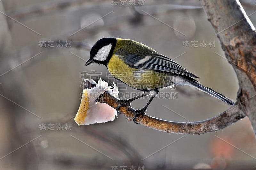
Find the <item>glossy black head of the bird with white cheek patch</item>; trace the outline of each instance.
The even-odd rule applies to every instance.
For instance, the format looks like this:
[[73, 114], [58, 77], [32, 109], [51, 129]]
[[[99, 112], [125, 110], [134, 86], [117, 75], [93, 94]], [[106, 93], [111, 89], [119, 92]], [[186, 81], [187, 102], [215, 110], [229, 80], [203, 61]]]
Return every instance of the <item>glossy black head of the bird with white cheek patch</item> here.
[[116, 38], [100, 39], [93, 45], [90, 51], [90, 59], [86, 62], [85, 66], [93, 62], [107, 65], [109, 59], [113, 55], [115, 47], [116, 47]]

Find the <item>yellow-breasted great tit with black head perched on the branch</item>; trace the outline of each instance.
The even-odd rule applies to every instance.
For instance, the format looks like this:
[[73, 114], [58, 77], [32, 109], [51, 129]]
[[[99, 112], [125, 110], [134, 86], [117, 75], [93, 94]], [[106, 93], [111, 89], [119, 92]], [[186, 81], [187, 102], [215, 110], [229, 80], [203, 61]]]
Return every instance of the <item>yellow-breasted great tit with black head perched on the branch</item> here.
[[126, 85], [144, 91], [143, 94], [137, 97], [118, 100], [117, 111], [120, 106], [124, 104], [130, 106], [133, 100], [151, 94], [146, 106], [136, 110], [134, 117], [145, 114], [148, 105], [159, 92], [158, 89], [173, 87], [174, 85], [194, 86], [230, 105], [234, 104], [222, 94], [201, 85], [194, 79], [199, 77], [188, 72], [175, 61], [137, 41], [102, 38], [93, 45], [90, 51], [90, 59], [85, 66], [93, 62], [105, 65], [114, 78]]

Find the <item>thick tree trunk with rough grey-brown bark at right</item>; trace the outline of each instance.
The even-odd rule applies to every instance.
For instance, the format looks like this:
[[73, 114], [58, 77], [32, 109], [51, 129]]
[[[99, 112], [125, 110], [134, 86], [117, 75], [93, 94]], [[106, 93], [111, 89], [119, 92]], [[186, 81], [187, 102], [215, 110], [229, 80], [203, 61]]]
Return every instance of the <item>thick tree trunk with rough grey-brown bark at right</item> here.
[[229, 63], [236, 72], [240, 87], [236, 105], [249, 117], [255, 133], [255, 28], [238, 0], [200, 0], [200, 2], [220, 40]]

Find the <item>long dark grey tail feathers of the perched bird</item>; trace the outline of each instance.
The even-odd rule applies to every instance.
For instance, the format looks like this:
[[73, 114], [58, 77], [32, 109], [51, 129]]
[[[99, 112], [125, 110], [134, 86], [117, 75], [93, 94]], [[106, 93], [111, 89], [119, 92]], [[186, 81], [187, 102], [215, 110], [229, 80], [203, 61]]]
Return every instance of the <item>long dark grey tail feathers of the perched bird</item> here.
[[203, 92], [206, 92], [206, 93], [212, 95], [213, 97], [216, 97], [217, 99], [220, 99], [220, 100], [222, 100], [222, 101], [228, 103], [229, 105], [233, 105], [233, 104], [234, 104], [233, 101], [229, 100], [228, 98], [226, 98], [226, 97], [223, 96], [222, 94], [220, 94], [220, 93], [218, 93], [218, 92], [212, 90], [212, 89], [209, 88], [209, 87], [205, 87], [205, 86], [201, 85], [200, 83], [198, 83], [198, 82], [196, 82], [196, 81], [193, 81], [193, 80], [189, 81], [189, 83], [190, 83], [192, 86], [196, 87], [197, 89], [202, 90]]

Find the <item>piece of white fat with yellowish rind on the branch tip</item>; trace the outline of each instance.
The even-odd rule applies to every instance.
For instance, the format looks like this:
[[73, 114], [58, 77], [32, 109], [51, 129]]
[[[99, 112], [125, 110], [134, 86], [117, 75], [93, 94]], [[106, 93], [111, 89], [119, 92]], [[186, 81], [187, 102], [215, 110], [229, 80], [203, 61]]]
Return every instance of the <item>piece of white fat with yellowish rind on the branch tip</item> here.
[[[86, 82], [87, 80], [84, 79]], [[116, 109], [106, 103], [95, 102], [100, 94], [108, 91], [111, 95], [117, 98], [118, 87], [114, 84], [114, 88], [108, 86], [108, 83], [99, 79], [98, 83], [94, 80], [88, 80], [94, 84], [92, 89], [84, 89], [81, 104], [75, 117], [75, 122], [78, 125], [89, 125], [94, 123], [105, 123], [113, 121], [117, 117]]]

